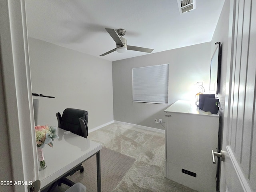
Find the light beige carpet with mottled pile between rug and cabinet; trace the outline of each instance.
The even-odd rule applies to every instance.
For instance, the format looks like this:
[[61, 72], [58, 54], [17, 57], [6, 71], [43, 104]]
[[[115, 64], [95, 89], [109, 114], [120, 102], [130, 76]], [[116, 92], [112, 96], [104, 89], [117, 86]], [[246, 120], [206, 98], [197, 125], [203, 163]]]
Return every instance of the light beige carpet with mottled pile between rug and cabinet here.
[[88, 138], [136, 158], [114, 192], [196, 192], [164, 177], [164, 134], [113, 123]]

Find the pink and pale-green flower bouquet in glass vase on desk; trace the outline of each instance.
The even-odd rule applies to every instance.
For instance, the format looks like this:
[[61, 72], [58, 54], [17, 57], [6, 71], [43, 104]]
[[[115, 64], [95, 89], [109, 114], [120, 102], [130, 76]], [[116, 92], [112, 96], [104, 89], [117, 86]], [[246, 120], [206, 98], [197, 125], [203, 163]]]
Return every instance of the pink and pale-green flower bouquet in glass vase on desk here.
[[59, 136], [56, 133], [56, 127], [52, 126], [35, 126], [36, 130], [36, 146], [38, 151], [38, 160], [40, 162], [39, 170], [46, 168], [46, 163], [44, 160], [44, 154], [42, 149], [47, 144], [50, 147], [53, 147], [52, 141], [58, 139]]

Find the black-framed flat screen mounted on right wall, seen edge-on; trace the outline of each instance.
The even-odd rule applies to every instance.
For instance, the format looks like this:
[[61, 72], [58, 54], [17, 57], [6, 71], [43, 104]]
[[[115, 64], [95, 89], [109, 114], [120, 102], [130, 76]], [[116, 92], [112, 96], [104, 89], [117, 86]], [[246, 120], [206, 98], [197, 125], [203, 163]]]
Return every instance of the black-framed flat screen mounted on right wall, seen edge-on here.
[[216, 94], [220, 91], [220, 69], [221, 69], [221, 43], [218, 44], [214, 54], [211, 58], [211, 66], [210, 66], [210, 91], [216, 92]]

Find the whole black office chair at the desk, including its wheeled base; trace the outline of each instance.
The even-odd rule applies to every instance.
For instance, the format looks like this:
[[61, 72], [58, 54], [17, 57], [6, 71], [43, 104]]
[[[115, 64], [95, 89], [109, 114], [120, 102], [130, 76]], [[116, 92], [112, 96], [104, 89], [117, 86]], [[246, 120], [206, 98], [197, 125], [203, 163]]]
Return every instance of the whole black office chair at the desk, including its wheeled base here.
[[[58, 127], [62, 128], [67, 131], [71, 131], [74, 134], [80, 135], [82, 137], [87, 138], [88, 136], [88, 112], [85, 110], [80, 109], [72, 109], [67, 108], [63, 111], [62, 116], [60, 113], [56, 113], [57, 120], [58, 120]], [[57, 180], [50, 186], [48, 192], [52, 191], [57, 185], [60, 186], [62, 183], [73, 186], [75, 183], [71, 180], [67, 179], [67, 176], [74, 174], [75, 172], [79, 171], [82, 173], [84, 172], [84, 167], [82, 164], [78, 165], [76, 168], [71, 170], [68, 174], [64, 175], [62, 178]]]

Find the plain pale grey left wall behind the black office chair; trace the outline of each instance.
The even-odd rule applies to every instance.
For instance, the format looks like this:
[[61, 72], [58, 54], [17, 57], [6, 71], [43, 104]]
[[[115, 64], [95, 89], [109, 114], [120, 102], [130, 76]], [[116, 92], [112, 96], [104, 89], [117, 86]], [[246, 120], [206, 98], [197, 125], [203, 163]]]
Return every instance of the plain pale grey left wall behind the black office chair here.
[[56, 125], [56, 113], [89, 113], [88, 128], [113, 121], [112, 62], [29, 38], [32, 92], [39, 99], [38, 124]]

